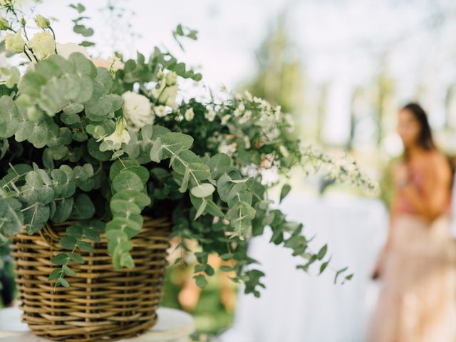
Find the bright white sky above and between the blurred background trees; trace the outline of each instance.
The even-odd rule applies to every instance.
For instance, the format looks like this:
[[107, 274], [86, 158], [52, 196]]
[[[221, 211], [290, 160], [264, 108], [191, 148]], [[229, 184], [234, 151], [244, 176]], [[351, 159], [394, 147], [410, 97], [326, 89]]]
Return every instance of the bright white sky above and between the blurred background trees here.
[[[398, 105], [424, 89], [420, 100], [432, 110], [436, 128], [443, 123], [446, 89], [456, 79], [454, 0], [110, 1], [120, 8], [120, 19], [109, 15], [108, 2], [81, 1], [91, 18], [87, 24], [95, 29], [93, 56], [107, 58], [118, 50], [132, 57], [137, 50], [147, 54], [162, 46], [195, 66], [214, 89], [235, 88], [255, 75], [254, 52], [286, 11], [289, 38], [306, 80], [331, 85], [325, 135], [335, 143], [348, 134], [353, 88], [371, 82], [380, 66], [386, 65], [395, 80]], [[61, 43], [81, 41], [72, 32], [76, 11], [70, 3], [43, 0], [36, 9], [58, 19], [53, 26]], [[446, 21], [438, 21], [441, 14]], [[177, 24], [199, 31], [198, 41], [185, 41], [185, 53], [171, 35]]]

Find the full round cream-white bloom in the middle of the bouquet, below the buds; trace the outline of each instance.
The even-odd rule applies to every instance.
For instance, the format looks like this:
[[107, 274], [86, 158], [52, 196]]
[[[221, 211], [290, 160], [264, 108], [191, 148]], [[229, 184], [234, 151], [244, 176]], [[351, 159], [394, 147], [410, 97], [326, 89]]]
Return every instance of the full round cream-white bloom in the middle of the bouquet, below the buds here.
[[138, 132], [144, 125], [154, 123], [154, 115], [150, 107], [150, 101], [144, 95], [125, 91], [122, 94], [123, 115], [127, 120], [128, 128]]

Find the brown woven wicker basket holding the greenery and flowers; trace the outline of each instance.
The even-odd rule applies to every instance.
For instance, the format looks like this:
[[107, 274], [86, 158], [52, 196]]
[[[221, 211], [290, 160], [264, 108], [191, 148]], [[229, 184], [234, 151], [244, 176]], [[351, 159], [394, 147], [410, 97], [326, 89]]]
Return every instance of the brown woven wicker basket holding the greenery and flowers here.
[[106, 240], [93, 252], [81, 254], [85, 264], [69, 264], [77, 272], [68, 276], [66, 289], [48, 281], [56, 266], [51, 257], [65, 224], [46, 224], [40, 234], [19, 234], [12, 244], [23, 320], [33, 333], [53, 341], [117, 341], [137, 336], [155, 324], [167, 266], [170, 223], [145, 217], [134, 237], [133, 269], [113, 269]]

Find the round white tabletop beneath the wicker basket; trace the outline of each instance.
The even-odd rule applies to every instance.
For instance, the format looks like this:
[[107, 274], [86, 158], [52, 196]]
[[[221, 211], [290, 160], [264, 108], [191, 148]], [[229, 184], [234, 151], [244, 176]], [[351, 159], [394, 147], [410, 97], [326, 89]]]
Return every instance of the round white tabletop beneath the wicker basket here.
[[[0, 342], [48, 342], [34, 336], [21, 321], [22, 311], [18, 308], [0, 309]], [[187, 342], [195, 332], [192, 316], [177, 309], [157, 310], [157, 324], [147, 333], [120, 341], [128, 342]]]

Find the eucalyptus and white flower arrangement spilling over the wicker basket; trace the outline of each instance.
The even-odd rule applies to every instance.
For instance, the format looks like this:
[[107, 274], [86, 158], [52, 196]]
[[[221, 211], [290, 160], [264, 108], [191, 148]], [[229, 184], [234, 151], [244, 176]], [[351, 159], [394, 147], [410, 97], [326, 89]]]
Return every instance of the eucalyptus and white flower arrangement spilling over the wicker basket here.
[[[247, 245], [266, 227], [271, 243], [304, 259], [298, 267], [320, 261], [320, 272], [326, 268], [326, 246], [312, 252], [303, 225], [289, 222], [268, 190], [308, 162], [373, 187], [355, 163], [303, 147], [291, 116], [249, 93], [186, 98], [181, 81], [199, 83], [202, 75], [167, 51], [93, 59], [92, 42], [56, 43], [51, 20], [40, 15], [31, 36], [14, 1], [1, 4], [4, 47], [20, 62], [0, 69], [0, 237], [77, 222], [60, 242], [68, 252], [52, 259], [56, 286], [70, 286], [71, 263], [83, 263], [78, 252], [90, 252], [100, 234], [115, 268], [133, 266], [130, 239], [143, 216], [169, 217], [182, 248], [186, 239], [199, 242], [199, 286], [214, 273], [207, 256], [215, 252], [232, 260], [223, 271], [258, 296], [264, 274], [252, 267]], [[91, 36], [84, 6], [71, 6], [78, 11], [73, 31]], [[183, 26], [174, 34], [196, 38]], [[284, 185], [281, 199], [290, 190]]]

